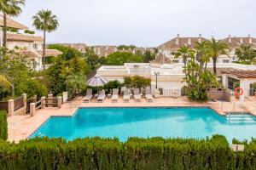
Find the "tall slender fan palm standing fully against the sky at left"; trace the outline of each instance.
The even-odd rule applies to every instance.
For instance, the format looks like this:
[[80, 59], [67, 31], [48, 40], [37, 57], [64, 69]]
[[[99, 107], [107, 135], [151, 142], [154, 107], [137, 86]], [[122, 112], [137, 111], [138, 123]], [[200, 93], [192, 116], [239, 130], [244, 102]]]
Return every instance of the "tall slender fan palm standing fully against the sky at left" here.
[[[50, 10], [39, 10], [38, 13], [33, 16], [33, 26], [36, 29], [44, 31], [44, 49], [43, 49], [43, 62], [45, 60], [45, 40], [46, 40], [46, 31], [51, 32], [55, 31], [59, 26], [57, 17], [52, 14]], [[45, 62], [44, 62], [45, 69]]]

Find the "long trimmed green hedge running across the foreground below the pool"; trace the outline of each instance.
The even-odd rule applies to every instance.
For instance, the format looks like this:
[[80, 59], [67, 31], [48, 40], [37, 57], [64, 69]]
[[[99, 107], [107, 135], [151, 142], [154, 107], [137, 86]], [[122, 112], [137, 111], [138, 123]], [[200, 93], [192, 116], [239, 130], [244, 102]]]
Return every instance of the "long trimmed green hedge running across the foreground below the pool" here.
[[255, 169], [256, 140], [243, 152], [212, 139], [29, 139], [0, 141], [1, 169]]

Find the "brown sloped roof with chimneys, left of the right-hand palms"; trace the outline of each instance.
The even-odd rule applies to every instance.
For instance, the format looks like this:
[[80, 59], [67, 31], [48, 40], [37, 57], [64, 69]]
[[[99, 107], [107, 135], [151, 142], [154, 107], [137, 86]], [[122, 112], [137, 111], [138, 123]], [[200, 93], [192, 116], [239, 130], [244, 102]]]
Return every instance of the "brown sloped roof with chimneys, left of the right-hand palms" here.
[[166, 50], [177, 50], [183, 46], [187, 46], [189, 48], [195, 47], [195, 42], [204, 42], [209, 41], [207, 38], [204, 37], [175, 37], [172, 40], [165, 42], [158, 46], [159, 49], [166, 49]]

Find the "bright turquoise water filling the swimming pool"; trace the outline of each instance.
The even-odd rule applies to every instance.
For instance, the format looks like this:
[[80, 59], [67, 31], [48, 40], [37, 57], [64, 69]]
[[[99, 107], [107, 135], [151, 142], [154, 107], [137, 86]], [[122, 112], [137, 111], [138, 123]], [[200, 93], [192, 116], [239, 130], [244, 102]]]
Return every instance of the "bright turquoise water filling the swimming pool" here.
[[73, 140], [84, 137], [206, 138], [223, 134], [231, 141], [256, 137], [253, 116], [219, 116], [207, 108], [79, 109], [72, 117], [49, 118], [31, 138], [48, 136]]

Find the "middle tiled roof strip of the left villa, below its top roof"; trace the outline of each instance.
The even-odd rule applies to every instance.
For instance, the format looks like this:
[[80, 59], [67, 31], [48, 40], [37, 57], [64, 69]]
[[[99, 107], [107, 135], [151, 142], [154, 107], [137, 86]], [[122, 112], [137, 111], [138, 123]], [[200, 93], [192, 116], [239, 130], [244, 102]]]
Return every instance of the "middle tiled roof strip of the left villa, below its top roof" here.
[[21, 42], [43, 42], [42, 37], [36, 36], [29, 36], [25, 34], [16, 34], [16, 33], [9, 33], [7, 34], [7, 40], [11, 41], [21, 41]]

